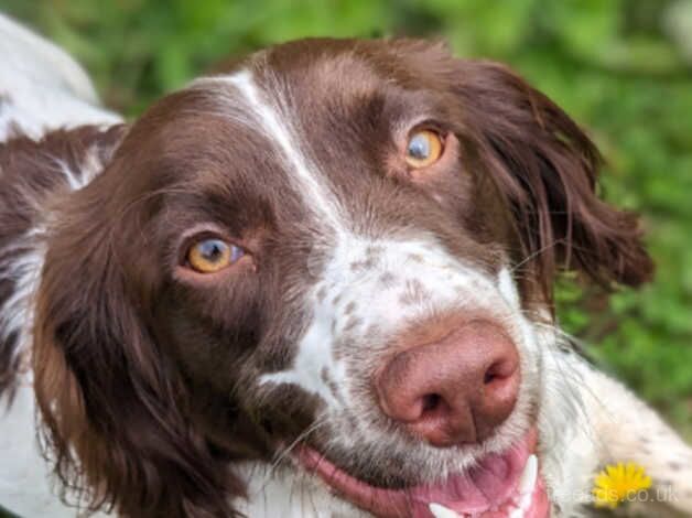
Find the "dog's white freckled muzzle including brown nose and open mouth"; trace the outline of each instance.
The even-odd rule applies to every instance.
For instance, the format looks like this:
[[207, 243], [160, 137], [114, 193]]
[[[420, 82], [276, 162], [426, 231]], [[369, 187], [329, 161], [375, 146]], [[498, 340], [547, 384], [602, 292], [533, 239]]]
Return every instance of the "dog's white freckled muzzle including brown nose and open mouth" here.
[[303, 468], [375, 516], [547, 516], [530, 341], [506, 269], [433, 239], [350, 238], [307, 301], [290, 368], [262, 377], [321, 396], [321, 419], [334, 423], [302, 441]]

